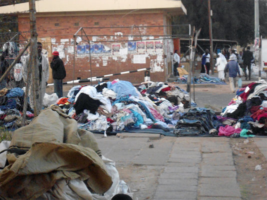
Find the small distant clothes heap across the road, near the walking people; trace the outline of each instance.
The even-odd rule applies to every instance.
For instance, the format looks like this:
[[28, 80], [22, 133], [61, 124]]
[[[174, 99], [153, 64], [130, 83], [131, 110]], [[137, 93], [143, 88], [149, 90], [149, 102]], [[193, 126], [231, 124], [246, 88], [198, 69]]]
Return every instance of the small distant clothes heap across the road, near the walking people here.
[[[182, 77], [179, 77], [175, 82], [186, 84], [188, 79], [188, 75], [183, 75]], [[213, 83], [213, 84], [219, 84], [219, 85], [225, 85], [226, 83], [220, 80], [217, 77], [212, 77], [204, 73], [200, 73], [198, 77], [194, 76], [191, 78], [191, 84], [198, 84], [198, 83]]]

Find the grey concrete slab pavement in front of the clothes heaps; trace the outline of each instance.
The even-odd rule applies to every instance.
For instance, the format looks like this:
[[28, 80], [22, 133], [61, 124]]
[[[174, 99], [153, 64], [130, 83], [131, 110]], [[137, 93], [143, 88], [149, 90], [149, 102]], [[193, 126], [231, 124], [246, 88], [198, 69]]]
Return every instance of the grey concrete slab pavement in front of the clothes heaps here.
[[[134, 133], [127, 133], [129, 136]], [[95, 134], [102, 154], [116, 162], [120, 179], [138, 200], [241, 200], [229, 138], [116, 137]], [[154, 137], [154, 138], [153, 138]], [[156, 139], [157, 138], [157, 139]], [[156, 140], [153, 140], [156, 139]], [[267, 139], [255, 138], [266, 157]], [[154, 148], [149, 148], [153, 144]], [[146, 171], [123, 174], [120, 168]], [[121, 172], [120, 172], [121, 171]], [[136, 177], [138, 177], [136, 179]], [[139, 177], [143, 177], [140, 178]], [[151, 179], [152, 183], [151, 183]], [[149, 183], [146, 183], [149, 182]], [[144, 191], [144, 192], [142, 192]]]

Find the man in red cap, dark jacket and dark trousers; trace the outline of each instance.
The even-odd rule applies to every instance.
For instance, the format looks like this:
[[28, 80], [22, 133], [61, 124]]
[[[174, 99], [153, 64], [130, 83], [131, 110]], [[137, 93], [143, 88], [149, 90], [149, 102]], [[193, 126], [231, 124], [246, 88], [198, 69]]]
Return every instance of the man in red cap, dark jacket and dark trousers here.
[[66, 77], [66, 71], [63, 61], [59, 58], [58, 51], [54, 51], [52, 55], [53, 59], [50, 62], [50, 67], [54, 81], [54, 93], [60, 98], [63, 95], [62, 79]]

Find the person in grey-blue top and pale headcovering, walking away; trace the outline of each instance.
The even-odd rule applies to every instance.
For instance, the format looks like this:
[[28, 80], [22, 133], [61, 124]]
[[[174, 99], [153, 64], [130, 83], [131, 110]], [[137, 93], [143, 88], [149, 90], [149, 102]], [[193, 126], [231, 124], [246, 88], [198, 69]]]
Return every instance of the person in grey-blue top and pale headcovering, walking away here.
[[229, 70], [229, 83], [230, 83], [231, 91], [233, 93], [235, 92], [237, 73], [239, 77], [241, 78], [238, 63], [234, 59], [235, 57], [231, 55], [229, 58], [229, 62], [226, 64], [224, 68], [224, 73], [226, 73]]

